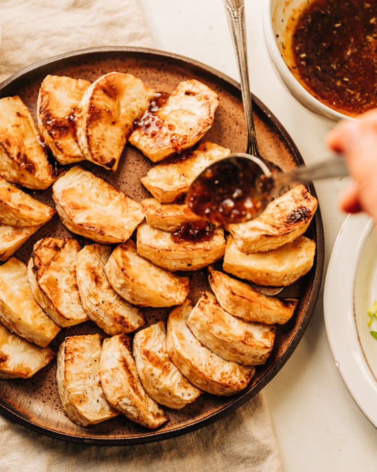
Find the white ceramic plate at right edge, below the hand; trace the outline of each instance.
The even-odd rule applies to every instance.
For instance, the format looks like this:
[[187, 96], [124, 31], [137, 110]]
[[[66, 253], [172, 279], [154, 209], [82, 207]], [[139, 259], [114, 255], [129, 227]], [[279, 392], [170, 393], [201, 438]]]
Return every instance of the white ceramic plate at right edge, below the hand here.
[[345, 386], [377, 428], [377, 340], [367, 324], [368, 308], [375, 300], [377, 233], [368, 216], [350, 215], [337, 237], [327, 270], [326, 330]]

